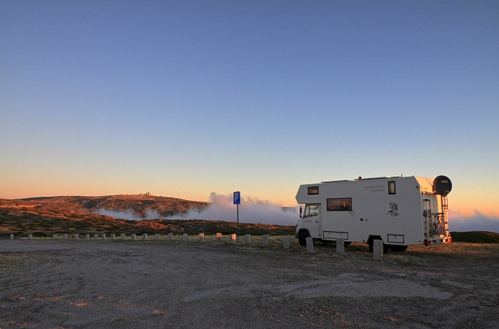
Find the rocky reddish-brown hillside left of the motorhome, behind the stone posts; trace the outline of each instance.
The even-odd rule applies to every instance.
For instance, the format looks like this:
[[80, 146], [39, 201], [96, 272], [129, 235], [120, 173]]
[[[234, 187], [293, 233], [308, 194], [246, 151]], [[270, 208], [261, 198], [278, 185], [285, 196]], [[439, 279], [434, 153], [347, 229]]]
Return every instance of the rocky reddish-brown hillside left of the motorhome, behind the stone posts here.
[[[121, 220], [94, 211], [132, 209], [145, 216], [148, 209], [162, 217], [191, 208], [202, 209], [208, 202], [156, 197], [154, 195], [108, 195], [104, 197], [32, 197], [0, 199], [0, 238], [17, 236], [51, 236], [58, 233], [235, 233], [236, 223], [211, 220]], [[240, 234], [292, 234], [295, 226], [240, 223]]]

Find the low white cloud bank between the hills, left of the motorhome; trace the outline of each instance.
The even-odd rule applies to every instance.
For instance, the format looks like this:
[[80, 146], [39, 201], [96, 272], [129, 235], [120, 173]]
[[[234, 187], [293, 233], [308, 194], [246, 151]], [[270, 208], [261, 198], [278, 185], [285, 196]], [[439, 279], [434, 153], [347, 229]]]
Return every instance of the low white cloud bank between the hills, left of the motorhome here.
[[[161, 216], [157, 211], [148, 209], [146, 216], [141, 217], [134, 214], [133, 209], [126, 211], [115, 211], [100, 208], [94, 213], [107, 215], [123, 220], [155, 220], [157, 218], [180, 219], [180, 220], [223, 220], [225, 222], [236, 222], [236, 205], [232, 195], [219, 195], [214, 192], [210, 194], [211, 205], [202, 209], [191, 209], [186, 213], [176, 213], [172, 216]], [[278, 225], [295, 225], [298, 220], [298, 207], [283, 208], [279, 204], [261, 201], [251, 197], [241, 198], [239, 205], [239, 222], [261, 223]]]

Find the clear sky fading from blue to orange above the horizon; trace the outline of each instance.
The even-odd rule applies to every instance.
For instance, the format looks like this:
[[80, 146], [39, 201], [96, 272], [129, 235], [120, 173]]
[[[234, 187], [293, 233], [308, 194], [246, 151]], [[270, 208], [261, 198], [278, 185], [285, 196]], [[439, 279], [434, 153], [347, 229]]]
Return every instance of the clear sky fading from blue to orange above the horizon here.
[[499, 220], [498, 1], [0, 1], [0, 198], [446, 175]]

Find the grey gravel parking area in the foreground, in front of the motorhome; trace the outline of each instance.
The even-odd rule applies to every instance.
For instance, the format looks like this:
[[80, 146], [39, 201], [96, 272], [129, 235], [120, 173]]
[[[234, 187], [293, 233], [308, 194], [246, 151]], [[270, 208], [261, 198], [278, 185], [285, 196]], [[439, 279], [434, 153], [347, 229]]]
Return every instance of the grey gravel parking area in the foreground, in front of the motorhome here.
[[498, 244], [206, 240], [1, 240], [0, 328], [499, 328]]

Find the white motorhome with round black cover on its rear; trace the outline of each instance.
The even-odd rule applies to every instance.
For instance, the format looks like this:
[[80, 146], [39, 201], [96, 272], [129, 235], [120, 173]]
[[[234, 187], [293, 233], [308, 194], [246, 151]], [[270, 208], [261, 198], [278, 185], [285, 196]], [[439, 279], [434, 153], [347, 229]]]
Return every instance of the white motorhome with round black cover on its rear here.
[[384, 252], [408, 245], [450, 243], [447, 195], [450, 179], [439, 176], [376, 177], [323, 181], [299, 187], [295, 238], [345, 244], [383, 240]]

